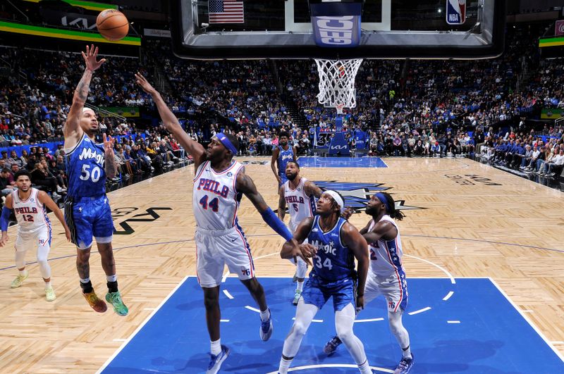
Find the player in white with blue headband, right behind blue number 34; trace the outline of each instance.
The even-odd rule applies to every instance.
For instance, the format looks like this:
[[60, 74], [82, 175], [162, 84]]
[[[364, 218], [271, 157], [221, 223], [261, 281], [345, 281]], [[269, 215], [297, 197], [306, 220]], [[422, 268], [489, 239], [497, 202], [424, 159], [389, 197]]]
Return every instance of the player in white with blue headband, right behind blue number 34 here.
[[[366, 207], [372, 220], [360, 230], [369, 243], [370, 270], [364, 287], [364, 302], [368, 304], [379, 295], [384, 295], [388, 304], [388, 323], [402, 349], [402, 359], [395, 374], [406, 374], [413, 367], [410, 335], [402, 323], [407, 308], [407, 281], [403, 270], [401, 237], [395, 220], [402, 220], [403, 213], [396, 209], [396, 202], [390, 194], [374, 194]], [[333, 337], [325, 344], [326, 354], [333, 354], [341, 340]]]

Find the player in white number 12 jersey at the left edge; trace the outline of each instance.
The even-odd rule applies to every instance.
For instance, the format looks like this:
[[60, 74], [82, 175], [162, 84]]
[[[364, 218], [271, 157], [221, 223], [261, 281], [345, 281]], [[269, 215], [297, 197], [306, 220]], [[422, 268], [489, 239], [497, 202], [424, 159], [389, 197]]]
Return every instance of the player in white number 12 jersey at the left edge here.
[[8, 220], [11, 211], [16, 213], [18, 220], [18, 237], [16, 238], [16, 266], [20, 274], [13, 280], [11, 288], [18, 288], [27, 278], [25, 270], [25, 252], [27, 249], [37, 248], [37, 263], [39, 271], [45, 282], [45, 297], [47, 301], [56, 299], [53, 287], [51, 287], [51, 267], [47, 263], [47, 256], [51, 249], [51, 222], [47, 217], [44, 206], [55, 213], [56, 218], [61, 221], [65, 229], [66, 239], [71, 240], [71, 230], [65, 223], [63, 212], [59, 206], [49, 197], [46, 192], [31, 187], [31, 175], [27, 170], [20, 170], [14, 175], [18, 189], [6, 196], [6, 205], [2, 208], [0, 226], [2, 238], [0, 247], [8, 242]]

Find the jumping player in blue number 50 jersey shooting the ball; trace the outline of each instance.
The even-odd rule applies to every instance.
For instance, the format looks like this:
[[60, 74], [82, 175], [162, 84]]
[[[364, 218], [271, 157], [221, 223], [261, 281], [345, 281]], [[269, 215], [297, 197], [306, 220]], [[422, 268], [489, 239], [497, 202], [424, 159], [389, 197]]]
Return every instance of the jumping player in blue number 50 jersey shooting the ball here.
[[106, 61], [105, 58], [98, 61], [97, 55], [98, 48], [94, 48], [94, 45], [86, 46], [86, 53], [82, 52], [86, 67], [75, 89], [73, 105], [63, 127], [68, 175], [65, 220], [71, 229], [72, 242], [77, 247], [76, 268], [82, 295], [94, 311], [106, 311], [106, 303], [97, 297], [90, 281], [89, 259], [94, 237], [106, 273], [106, 301], [114, 306], [118, 315], [125, 316], [128, 308], [118, 291], [116, 263], [111, 247], [114, 223], [106, 197], [106, 177], [116, 176], [114, 139], [104, 134], [104, 144], [94, 141], [94, 135], [99, 130], [98, 119], [92, 109], [85, 108], [92, 74]]

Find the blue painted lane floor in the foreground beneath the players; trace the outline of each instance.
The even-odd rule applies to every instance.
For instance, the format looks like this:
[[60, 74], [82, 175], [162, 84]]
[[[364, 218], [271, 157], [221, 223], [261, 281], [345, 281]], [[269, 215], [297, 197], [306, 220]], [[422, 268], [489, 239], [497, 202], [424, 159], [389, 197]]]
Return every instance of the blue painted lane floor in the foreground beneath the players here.
[[[260, 278], [274, 318], [268, 342], [259, 338], [258, 313], [236, 278], [222, 285], [221, 342], [231, 348], [221, 373], [276, 373], [283, 341], [293, 324], [290, 304], [294, 285], [288, 278]], [[563, 359], [541, 338], [487, 278], [409, 279], [410, 304], [404, 325], [410, 332], [415, 366], [410, 373], [564, 373]], [[449, 291], [454, 294], [443, 301]], [[386, 305], [379, 298], [360, 313], [355, 334], [364, 343], [375, 373], [387, 372], [400, 361], [400, 349], [386, 321]], [[296, 373], [357, 373], [348, 351], [340, 347], [326, 357], [322, 348], [334, 333], [331, 301], [317, 313], [292, 367], [315, 366]], [[460, 321], [460, 323], [447, 323]], [[196, 278], [187, 278], [135, 336], [116, 354], [102, 373], [204, 373], [209, 363], [202, 291]], [[326, 364], [348, 368], [324, 367]], [[387, 371], [384, 371], [384, 370]]]

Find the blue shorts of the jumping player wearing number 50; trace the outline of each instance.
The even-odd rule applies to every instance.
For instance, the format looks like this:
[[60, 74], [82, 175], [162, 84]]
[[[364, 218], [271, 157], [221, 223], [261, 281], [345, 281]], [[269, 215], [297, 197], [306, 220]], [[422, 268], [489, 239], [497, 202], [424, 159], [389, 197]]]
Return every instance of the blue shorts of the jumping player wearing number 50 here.
[[106, 195], [82, 197], [65, 201], [65, 221], [71, 230], [71, 239], [76, 247], [87, 249], [92, 246], [92, 237], [96, 242], [111, 243], [114, 235], [114, 221]]

